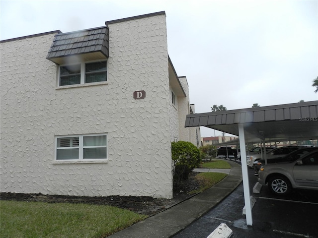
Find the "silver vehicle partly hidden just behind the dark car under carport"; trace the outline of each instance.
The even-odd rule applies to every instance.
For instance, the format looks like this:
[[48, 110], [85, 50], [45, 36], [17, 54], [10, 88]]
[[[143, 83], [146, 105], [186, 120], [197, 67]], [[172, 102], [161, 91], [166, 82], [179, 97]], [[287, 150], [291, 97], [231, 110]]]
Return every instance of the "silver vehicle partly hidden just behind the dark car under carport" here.
[[[270, 151], [266, 150], [266, 158], [278, 158], [278, 157], [283, 157], [285, 155], [288, 155], [289, 153], [298, 150], [302, 147], [300, 146], [284, 146], [276, 149], [272, 149]], [[253, 163], [258, 160], [264, 159], [264, 153], [262, 154], [256, 154], [256, 155], [251, 155], [251, 156], [246, 156], [246, 161], [247, 165], [252, 169], [253, 168]]]

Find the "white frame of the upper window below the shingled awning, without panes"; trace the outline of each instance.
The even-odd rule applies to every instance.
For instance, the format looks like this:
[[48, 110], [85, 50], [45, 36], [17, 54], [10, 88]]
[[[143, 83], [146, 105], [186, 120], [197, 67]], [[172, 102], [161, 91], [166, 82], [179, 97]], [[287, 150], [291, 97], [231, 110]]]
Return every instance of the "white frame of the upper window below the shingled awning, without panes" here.
[[[106, 81], [85, 83], [85, 64], [86, 63], [94, 63], [94, 62], [105, 62], [106, 63]], [[60, 86], [60, 73], [61, 73], [60, 68], [63, 66], [77, 65], [77, 64], [80, 64], [80, 83]], [[57, 87], [59, 87], [59, 88], [61, 88], [61, 87], [78, 87], [78, 86], [92, 85], [92, 84], [105, 84], [105, 83], [107, 83], [107, 81], [108, 81], [108, 62], [107, 62], [107, 60], [92, 60], [92, 61], [84, 61], [84, 62], [76, 62], [76, 63], [68, 63], [68, 64], [58, 65]]]

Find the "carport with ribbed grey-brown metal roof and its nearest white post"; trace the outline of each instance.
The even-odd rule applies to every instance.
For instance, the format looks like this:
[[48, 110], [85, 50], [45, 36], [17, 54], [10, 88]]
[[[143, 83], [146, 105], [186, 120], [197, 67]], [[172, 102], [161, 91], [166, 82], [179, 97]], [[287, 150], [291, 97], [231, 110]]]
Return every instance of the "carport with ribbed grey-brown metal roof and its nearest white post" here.
[[[318, 139], [318, 101], [190, 114], [186, 116], [185, 127], [192, 126], [238, 135], [241, 158], [246, 158], [246, 142]], [[246, 159], [241, 164], [246, 225], [252, 226]]]

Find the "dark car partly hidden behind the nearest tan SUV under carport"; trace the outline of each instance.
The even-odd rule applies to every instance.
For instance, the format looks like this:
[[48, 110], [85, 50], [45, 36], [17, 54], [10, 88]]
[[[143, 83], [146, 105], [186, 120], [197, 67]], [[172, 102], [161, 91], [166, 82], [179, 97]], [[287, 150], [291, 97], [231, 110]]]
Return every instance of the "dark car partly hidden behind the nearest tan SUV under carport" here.
[[[267, 164], [273, 164], [273, 163], [281, 163], [281, 162], [292, 162], [300, 157], [306, 155], [307, 153], [310, 153], [314, 150], [317, 150], [318, 147], [304, 147], [299, 150], [295, 150], [288, 155], [285, 155], [283, 157], [278, 157], [278, 158], [268, 158], [267, 159]], [[258, 175], [259, 169], [265, 165], [265, 160], [258, 160], [253, 163], [253, 169], [254, 169], [254, 174]]]

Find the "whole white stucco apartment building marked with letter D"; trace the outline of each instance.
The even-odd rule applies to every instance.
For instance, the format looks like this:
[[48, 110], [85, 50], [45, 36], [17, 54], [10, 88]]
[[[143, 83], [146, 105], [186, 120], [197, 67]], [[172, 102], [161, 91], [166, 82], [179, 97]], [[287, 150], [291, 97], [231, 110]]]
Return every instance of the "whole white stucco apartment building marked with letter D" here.
[[1, 192], [172, 197], [171, 141], [200, 131], [165, 12], [0, 45]]

